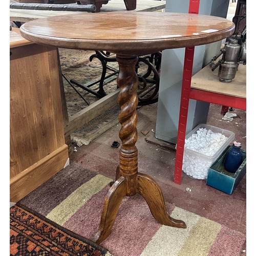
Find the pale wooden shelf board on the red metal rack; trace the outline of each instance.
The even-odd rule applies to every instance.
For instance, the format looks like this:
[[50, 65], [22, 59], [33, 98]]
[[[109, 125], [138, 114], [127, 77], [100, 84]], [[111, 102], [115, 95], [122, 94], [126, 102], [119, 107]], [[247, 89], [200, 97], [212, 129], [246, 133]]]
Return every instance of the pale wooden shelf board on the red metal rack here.
[[191, 88], [246, 99], [246, 65], [239, 65], [236, 77], [229, 83], [219, 81], [218, 71], [205, 66], [192, 77]]

